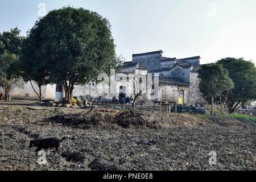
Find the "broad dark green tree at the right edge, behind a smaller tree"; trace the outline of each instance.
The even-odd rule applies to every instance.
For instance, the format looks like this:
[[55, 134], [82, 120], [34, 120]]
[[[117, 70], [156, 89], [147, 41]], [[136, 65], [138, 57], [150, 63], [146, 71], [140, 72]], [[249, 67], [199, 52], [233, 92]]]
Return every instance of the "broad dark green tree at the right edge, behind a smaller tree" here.
[[256, 68], [254, 63], [243, 58], [227, 57], [217, 61], [229, 72], [229, 77], [234, 82], [234, 88], [223, 92], [229, 113], [234, 113], [243, 104], [256, 100]]

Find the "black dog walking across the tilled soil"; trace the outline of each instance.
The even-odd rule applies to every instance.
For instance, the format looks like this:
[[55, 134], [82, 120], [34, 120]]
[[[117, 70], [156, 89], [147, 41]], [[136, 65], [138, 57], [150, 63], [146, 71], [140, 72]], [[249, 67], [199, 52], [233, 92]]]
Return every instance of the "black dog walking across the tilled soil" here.
[[38, 147], [35, 152], [39, 152], [42, 149], [48, 149], [49, 148], [55, 148], [55, 151], [57, 154], [60, 154], [60, 148], [64, 142], [64, 140], [67, 140], [65, 137], [63, 137], [61, 140], [56, 138], [47, 138], [42, 140], [31, 140], [30, 141], [30, 148], [32, 147]]

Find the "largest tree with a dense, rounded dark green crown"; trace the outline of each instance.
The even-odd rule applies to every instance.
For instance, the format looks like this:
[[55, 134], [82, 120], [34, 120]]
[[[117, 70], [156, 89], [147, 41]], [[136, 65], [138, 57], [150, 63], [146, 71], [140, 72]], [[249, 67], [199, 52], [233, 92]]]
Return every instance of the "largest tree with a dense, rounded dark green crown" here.
[[52, 83], [62, 82], [72, 103], [75, 85], [97, 81], [97, 76], [119, 63], [110, 23], [99, 14], [73, 7], [50, 11], [28, 34], [31, 56], [42, 65]]

